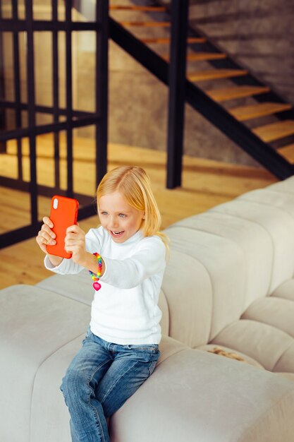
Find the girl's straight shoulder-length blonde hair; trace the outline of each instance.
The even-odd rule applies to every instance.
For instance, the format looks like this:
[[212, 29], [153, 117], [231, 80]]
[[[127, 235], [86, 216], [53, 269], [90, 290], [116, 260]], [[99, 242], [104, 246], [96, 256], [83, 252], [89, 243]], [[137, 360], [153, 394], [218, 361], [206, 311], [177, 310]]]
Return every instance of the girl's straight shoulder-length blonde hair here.
[[97, 188], [97, 201], [115, 191], [121, 192], [133, 208], [145, 212], [141, 227], [144, 237], [157, 235], [169, 249], [169, 238], [159, 232], [161, 215], [145, 170], [138, 166], [121, 166], [107, 172]]

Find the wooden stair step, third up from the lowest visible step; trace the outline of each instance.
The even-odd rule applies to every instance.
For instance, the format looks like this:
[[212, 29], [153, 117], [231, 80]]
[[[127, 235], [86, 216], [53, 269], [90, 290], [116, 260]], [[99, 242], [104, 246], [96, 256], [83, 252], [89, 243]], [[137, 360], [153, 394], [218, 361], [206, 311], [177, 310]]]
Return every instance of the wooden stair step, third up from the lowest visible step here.
[[252, 118], [264, 117], [265, 115], [276, 114], [291, 109], [292, 105], [287, 103], [258, 103], [250, 106], [234, 107], [228, 109], [238, 121], [247, 121]]

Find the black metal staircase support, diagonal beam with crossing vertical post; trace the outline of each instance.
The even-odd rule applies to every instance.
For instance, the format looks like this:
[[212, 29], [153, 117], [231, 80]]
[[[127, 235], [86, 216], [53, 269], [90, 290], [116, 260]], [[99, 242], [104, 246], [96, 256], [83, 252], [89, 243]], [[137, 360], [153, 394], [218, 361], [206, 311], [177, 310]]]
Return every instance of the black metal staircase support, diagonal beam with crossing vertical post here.
[[[136, 3], [136, 1], [134, 1]], [[164, 2], [154, 0], [154, 4], [165, 5]], [[188, 24], [188, 16], [185, 11], [186, 0], [173, 0], [168, 7], [171, 14], [171, 49], [169, 63], [162, 59], [156, 52], [140, 42], [127, 29], [123, 28], [114, 18], [109, 18], [109, 37], [116, 44], [122, 47], [125, 52], [138, 61], [148, 71], [157, 76], [164, 84], [169, 86], [169, 136], [168, 136], [168, 160], [167, 160], [167, 187], [173, 189], [180, 186], [182, 177], [182, 156], [183, 156], [183, 125], [184, 125], [184, 100], [197, 112], [202, 114], [216, 128], [226, 134], [234, 143], [240, 146], [245, 152], [251, 155], [257, 162], [264, 165], [278, 179], [286, 179], [294, 173], [294, 167], [284, 157], [282, 157], [268, 143], [262, 141], [250, 128], [235, 119], [224, 107], [212, 100], [200, 87], [186, 79], [183, 75], [185, 59], [185, 42], [183, 41], [186, 32], [192, 32], [196, 36], [197, 32], [191, 30]], [[185, 32], [183, 29], [186, 30]], [[181, 34], [179, 35], [179, 30]], [[197, 35], [200, 36], [200, 35]], [[176, 43], [176, 39], [178, 40]], [[207, 42], [207, 50], [214, 49]], [[181, 53], [180, 53], [181, 51]], [[215, 49], [214, 49], [215, 51]], [[237, 66], [231, 59], [227, 61], [209, 61], [209, 63], [219, 66], [219, 63], [226, 63], [226, 67]], [[225, 66], [225, 65], [223, 65]], [[237, 66], [240, 68], [240, 66]], [[246, 76], [249, 84], [259, 84], [250, 74]], [[236, 80], [237, 82], [238, 80]], [[240, 83], [242, 84], [242, 83]], [[278, 100], [274, 92], [270, 95], [272, 100]], [[262, 99], [261, 99], [262, 100]], [[290, 112], [283, 112], [290, 115]], [[278, 116], [280, 118], [280, 116]], [[281, 118], [284, 118], [281, 116]]]

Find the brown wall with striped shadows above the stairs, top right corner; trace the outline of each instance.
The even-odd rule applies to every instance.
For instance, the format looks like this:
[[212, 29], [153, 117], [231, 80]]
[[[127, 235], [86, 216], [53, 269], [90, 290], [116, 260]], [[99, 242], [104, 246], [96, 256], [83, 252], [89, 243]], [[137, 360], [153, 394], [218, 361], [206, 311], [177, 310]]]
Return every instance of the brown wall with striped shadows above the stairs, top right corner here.
[[191, 0], [190, 24], [294, 104], [293, 0]]

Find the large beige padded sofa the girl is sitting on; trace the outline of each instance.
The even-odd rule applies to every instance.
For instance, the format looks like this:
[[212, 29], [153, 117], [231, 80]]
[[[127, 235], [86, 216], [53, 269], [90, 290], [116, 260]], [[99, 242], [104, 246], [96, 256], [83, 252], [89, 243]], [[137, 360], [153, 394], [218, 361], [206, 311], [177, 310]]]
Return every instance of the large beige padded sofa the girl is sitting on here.
[[[161, 357], [111, 441], [293, 442], [294, 177], [166, 233]], [[71, 440], [59, 385], [92, 296], [87, 272], [0, 292], [1, 442]]]

